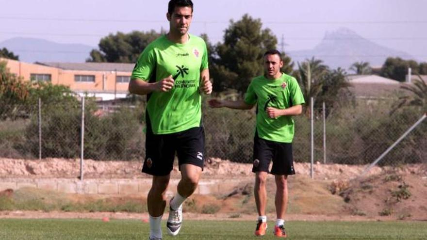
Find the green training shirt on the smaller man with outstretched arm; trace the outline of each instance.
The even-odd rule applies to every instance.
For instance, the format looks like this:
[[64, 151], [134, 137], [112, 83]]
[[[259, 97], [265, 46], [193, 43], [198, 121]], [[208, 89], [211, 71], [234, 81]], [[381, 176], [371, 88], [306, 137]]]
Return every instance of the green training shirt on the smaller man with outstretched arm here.
[[287, 109], [305, 103], [304, 96], [295, 78], [282, 74], [279, 79], [271, 80], [264, 76], [254, 78], [245, 94], [246, 104], [257, 104], [258, 137], [280, 142], [292, 143], [294, 139], [294, 120], [292, 116], [269, 118], [266, 109], [273, 107]]

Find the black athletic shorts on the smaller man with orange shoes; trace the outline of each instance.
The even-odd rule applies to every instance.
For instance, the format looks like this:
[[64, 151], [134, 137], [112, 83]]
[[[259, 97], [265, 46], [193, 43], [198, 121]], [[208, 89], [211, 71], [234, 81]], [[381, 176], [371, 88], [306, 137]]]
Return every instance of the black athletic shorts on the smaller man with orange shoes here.
[[[271, 171], [270, 162], [273, 160]], [[273, 175], [294, 175], [292, 143], [279, 143], [258, 137], [255, 132], [252, 172], [267, 172]]]

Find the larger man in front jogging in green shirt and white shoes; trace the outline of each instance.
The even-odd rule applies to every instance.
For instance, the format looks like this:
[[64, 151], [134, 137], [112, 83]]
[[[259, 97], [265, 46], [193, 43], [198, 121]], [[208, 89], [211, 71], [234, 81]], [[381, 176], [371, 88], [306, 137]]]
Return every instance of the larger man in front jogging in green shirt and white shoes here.
[[169, 32], [150, 43], [132, 72], [129, 91], [147, 95], [146, 156], [142, 172], [153, 176], [148, 192], [150, 240], [162, 239], [161, 219], [175, 154], [181, 171], [177, 194], [170, 200], [166, 228], [181, 229], [182, 203], [197, 188], [204, 163], [201, 92], [211, 94], [208, 52], [202, 38], [189, 34], [191, 0], [170, 0]]

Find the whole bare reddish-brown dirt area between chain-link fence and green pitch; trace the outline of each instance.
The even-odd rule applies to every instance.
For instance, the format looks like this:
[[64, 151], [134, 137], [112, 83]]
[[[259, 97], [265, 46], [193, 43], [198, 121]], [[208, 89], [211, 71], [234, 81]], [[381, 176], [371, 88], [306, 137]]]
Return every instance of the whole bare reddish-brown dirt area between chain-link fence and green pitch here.
[[[85, 160], [85, 178], [144, 178], [141, 162]], [[193, 195], [184, 206], [188, 219], [254, 220], [251, 164], [210, 159], [203, 178], [241, 178], [243, 181], [222, 195]], [[366, 220], [427, 220], [427, 165], [374, 167], [360, 177], [364, 165], [314, 165], [310, 179], [310, 164], [295, 163], [296, 176], [289, 177], [289, 207], [286, 219], [301, 221], [366, 221]], [[1, 178], [75, 178], [80, 160], [0, 159]], [[179, 177], [177, 167], [172, 177]], [[250, 179], [250, 180], [248, 180]], [[274, 178], [267, 182], [267, 216], [275, 219]], [[13, 194], [4, 192], [3, 194]], [[75, 201], [87, 196], [69, 195]], [[100, 196], [91, 196], [96, 199]], [[118, 196], [116, 196], [118, 197]], [[120, 196], [121, 198], [123, 196]], [[132, 196], [146, 202], [146, 196]], [[202, 213], [203, 208], [217, 208], [215, 213]], [[166, 214], [167, 215], [167, 214]], [[0, 211], [0, 218], [94, 218], [136, 219], [146, 221], [147, 213], [122, 212], [62, 212], [62, 211]]]

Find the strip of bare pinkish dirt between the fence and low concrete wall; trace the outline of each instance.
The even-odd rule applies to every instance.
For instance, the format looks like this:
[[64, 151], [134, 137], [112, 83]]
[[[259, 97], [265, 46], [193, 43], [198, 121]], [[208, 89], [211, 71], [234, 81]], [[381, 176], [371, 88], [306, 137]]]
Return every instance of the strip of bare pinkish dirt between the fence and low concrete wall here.
[[[364, 165], [345, 164], [314, 164], [315, 179], [349, 179], [362, 172]], [[142, 162], [139, 161], [95, 161], [84, 160], [85, 178], [145, 178], [149, 177], [141, 173]], [[410, 167], [411, 168], [411, 167]], [[416, 168], [416, 167], [414, 167]], [[206, 161], [203, 177], [239, 177], [252, 176], [252, 165], [247, 163], [235, 163], [229, 160], [211, 158]], [[297, 175], [310, 175], [309, 163], [295, 163]], [[380, 167], [374, 167], [370, 175], [382, 171]], [[411, 171], [411, 170], [410, 170]], [[60, 177], [75, 178], [80, 175], [79, 159], [43, 159], [22, 160], [0, 158], [0, 177]], [[179, 177], [178, 166], [174, 167], [172, 177]]]

